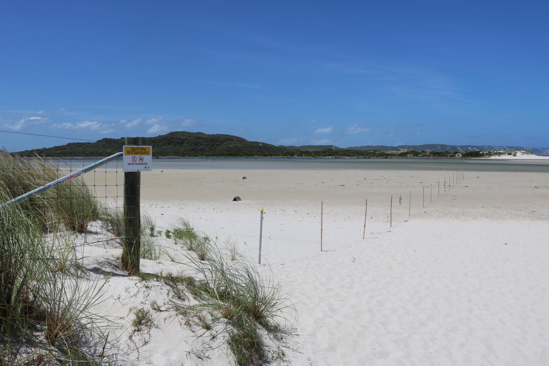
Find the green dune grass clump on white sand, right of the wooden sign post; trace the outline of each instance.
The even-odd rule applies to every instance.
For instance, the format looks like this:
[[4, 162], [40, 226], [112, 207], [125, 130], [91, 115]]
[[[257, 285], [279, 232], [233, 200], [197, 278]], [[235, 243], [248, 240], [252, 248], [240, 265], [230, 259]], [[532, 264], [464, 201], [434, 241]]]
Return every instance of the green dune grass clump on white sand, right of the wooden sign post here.
[[209, 326], [224, 327], [238, 365], [264, 364], [274, 354], [267, 339], [290, 333], [296, 320], [295, 306], [270, 270], [267, 276], [262, 275], [247, 258], [233, 259], [230, 251], [211, 239], [204, 245], [208, 246], [206, 260], [188, 252], [183, 255], [197, 273], [183, 284], [198, 303], [188, 305], [173, 299], [173, 307], [180, 313], [213, 314]]

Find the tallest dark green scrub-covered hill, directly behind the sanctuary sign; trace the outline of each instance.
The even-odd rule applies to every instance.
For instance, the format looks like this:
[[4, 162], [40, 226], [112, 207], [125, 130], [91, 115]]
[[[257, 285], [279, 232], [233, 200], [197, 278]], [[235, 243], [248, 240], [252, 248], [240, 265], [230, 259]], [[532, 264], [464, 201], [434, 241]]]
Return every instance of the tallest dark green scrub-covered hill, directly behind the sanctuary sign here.
[[[155, 137], [143, 137], [143, 145], [153, 146], [155, 156], [286, 156], [301, 150], [248, 141], [226, 134], [175, 131]], [[122, 151], [124, 138], [104, 138], [97, 142], [74, 142], [52, 148], [20, 151], [21, 155], [108, 156]]]

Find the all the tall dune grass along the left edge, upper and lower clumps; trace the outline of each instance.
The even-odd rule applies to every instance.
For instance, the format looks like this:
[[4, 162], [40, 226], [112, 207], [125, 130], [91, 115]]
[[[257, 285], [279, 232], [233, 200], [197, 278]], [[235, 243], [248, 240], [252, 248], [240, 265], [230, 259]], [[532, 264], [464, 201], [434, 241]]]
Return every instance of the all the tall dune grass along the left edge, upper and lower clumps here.
[[2, 204], [62, 175], [46, 160], [0, 151], [0, 365], [108, 363], [94, 354], [104, 339], [105, 319], [91, 312], [102, 284], [87, 278], [66, 240], [97, 218], [93, 194], [74, 179]]

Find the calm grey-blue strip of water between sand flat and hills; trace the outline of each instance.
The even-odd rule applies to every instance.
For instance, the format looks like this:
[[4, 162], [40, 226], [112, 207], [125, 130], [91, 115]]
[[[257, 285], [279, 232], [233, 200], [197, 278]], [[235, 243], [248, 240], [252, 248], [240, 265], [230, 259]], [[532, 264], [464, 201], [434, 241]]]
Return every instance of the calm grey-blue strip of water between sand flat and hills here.
[[[99, 159], [65, 160], [60, 167], [81, 167]], [[109, 162], [107, 168], [121, 169], [122, 160]], [[103, 169], [105, 167], [103, 166]], [[447, 170], [492, 172], [549, 172], [549, 160], [480, 159], [153, 159], [153, 169], [228, 169], [228, 170]]]

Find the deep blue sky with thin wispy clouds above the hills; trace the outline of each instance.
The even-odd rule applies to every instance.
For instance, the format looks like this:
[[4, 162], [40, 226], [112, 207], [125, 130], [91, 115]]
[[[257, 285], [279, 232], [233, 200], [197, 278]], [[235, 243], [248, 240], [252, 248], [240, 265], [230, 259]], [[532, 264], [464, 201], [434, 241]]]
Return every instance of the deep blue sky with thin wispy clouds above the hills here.
[[[549, 2], [4, 2], [0, 129], [549, 147]], [[69, 140], [0, 133], [8, 150]]]

